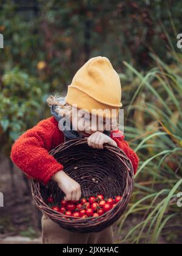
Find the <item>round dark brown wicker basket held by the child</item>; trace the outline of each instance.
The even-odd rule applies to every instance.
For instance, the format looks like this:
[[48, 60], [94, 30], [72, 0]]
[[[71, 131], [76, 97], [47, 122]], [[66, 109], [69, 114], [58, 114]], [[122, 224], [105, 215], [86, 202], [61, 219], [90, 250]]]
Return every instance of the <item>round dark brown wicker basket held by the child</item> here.
[[51, 181], [44, 186], [33, 180], [33, 199], [42, 213], [63, 229], [77, 233], [100, 232], [120, 218], [133, 190], [132, 163], [120, 148], [106, 144], [103, 150], [93, 149], [87, 145], [87, 139], [83, 138], [69, 140], [50, 151], [49, 154], [62, 163], [64, 171], [81, 185], [81, 196], [104, 194], [107, 198], [120, 195], [123, 196], [123, 200], [99, 217], [67, 219], [45, 203], [50, 195], [57, 203], [64, 198], [65, 195], [58, 185]]

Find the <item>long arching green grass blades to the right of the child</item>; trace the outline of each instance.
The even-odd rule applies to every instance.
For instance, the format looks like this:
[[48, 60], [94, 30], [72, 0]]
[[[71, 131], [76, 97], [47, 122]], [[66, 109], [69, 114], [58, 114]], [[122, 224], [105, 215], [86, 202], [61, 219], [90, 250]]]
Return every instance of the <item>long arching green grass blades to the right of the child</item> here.
[[[170, 54], [172, 65], [152, 55], [158, 68], [145, 75], [124, 63], [129, 74], [132, 72], [133, 88], [125, 135], [140, 157], [140, 166], [130, 208], [118, 222], [118, 232], [123, 235], [120, 243], [181, 240], [177, 194], [182, 191], [182, 62], [177, 53]], [[124, 80], [131, 79], [126, 76]], [[131, 216], [135, 222], [128, 230], [125, 224]]]

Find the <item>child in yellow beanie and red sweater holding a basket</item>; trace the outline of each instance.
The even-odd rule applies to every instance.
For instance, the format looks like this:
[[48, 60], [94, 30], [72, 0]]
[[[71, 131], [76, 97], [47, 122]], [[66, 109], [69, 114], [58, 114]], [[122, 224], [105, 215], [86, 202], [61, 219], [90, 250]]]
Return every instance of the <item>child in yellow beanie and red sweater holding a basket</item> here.
[[[80, 185], [64, 172], [61, 163], [49, 155], [51, 149], [74, 138], [87, 138], [88, 145], [99, 150], [105, 143], [118, 146], [129, 157], [136, 172], [139, 158], [124, 140], [123, 133], [119, 129], [107, 129], [111, 120], [118, 118], [122, 106], [120, 77], [109, 59], [101, 56], [90, 59], [73, 77], [64, 101], [50, 96], [47, 102], [53, 116], [27, 130], [12, 146], [10, 157], [25, 174], [44, 184], [52, 179], [64, 192], [64, 199], [79, 200]], [[94, 112], [96, 110], [103, 110], [103, 114]], [[44, 215], [42, 243], [109, 244], [113, 243], [113, 229], [79, 234], [62, 229]]]

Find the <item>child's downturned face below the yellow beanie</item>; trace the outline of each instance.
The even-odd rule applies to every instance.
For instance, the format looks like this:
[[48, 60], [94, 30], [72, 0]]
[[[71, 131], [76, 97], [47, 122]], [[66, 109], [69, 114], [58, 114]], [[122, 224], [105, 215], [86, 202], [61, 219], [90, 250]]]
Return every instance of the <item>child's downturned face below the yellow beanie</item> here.
[[84, 110], [77, 110], [77, 113], [75, 112], [75, 115], [71, 116], [71, 122], [72, 126], [77, 127], [77, 132], [83, 136], [83, 137], [89, 137], [92, 135], [92, 133], [99, 131], [104, 132], [106, 130], [107, 122], [109, 122], [110, 119], [106, 118], [99, 118], [98, 116], [91, 115], [88, 112], [85, 112]]

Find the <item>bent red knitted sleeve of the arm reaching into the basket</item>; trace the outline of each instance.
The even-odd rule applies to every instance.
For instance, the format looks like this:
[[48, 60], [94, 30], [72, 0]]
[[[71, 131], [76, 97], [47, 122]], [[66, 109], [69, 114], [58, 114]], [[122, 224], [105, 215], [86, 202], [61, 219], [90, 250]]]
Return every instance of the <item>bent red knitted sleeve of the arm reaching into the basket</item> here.
[[29, 177], [47, 184], [63, 166], [49, 155], [49, 151], [64, 141], [56, 120], [40, 121], [23, 133], [13, 144], [10, 158]]

